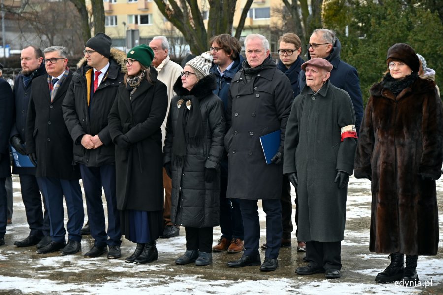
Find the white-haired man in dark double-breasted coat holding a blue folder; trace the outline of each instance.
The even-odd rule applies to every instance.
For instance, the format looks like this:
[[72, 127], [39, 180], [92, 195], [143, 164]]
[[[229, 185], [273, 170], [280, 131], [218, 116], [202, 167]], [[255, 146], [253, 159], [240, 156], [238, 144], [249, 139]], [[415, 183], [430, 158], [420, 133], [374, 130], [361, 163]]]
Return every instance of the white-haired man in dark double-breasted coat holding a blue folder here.
[[[260, 221], [258, 200], [266, 213], [266, 252], [261, 271], [279, 266], [282, 239], [283, 145], [286, 122], [294, 98], [291, 83], [269, 55], [269, 42], [259, 34], [245, 38], [246, 60], [232, 78], [227, 110], [227, 197], [239, 200], [245, 229], [245, 251], [230, 267], [258, 266]], [[263, 155], [260, 137], [273, 133], [277, 150]]]

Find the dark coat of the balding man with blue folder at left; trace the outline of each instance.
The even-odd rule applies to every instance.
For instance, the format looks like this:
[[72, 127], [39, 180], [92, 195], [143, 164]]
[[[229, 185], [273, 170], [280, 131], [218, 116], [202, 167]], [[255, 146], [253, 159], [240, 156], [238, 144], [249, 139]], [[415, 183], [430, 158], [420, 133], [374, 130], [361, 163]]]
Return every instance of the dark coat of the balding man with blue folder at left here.
[[[31, 80], [25, 86], [23, 83], [23, 74], [17, 75], [14, 82], [14, 88], [12, 93], [14, 95], [14, 121], [11, 128], [11, 135], [19, 135], [22, 141], [26, 142], [25, 128], [26, 128], [26, 116], [28, 114], [29, 97], [31, 95], [32, 81], [41, 76], [46, 75], [45, 65], [42, 63], [38, 69], [31, 73]], [[26, 146], [26, 143], [25, 143]], [[17, 167], [15, 162], [12, 162], [12, 173], [13, 174], [31, 174], [35, 175], [37, 169], [35, 167]]]

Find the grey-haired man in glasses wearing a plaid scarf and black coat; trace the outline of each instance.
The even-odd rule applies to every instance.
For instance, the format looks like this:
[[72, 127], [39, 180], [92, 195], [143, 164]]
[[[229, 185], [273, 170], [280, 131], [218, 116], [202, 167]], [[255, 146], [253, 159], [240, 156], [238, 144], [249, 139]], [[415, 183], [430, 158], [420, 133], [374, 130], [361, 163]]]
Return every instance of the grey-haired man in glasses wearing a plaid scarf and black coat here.
[[[62, 102], [72, 79], [67, 67], [67, 51], [61, 46], [51, 46], [43, 51], [43, 63], [48, 75], [32, 82], [30, 104], [26, 120], [26, 152], [37, 167], [36, 178], [46, 198], [51, 225], [51, 242], [37, 250], [46, 254], [62, 249], [62, 255], [81, 250], [80, 230], [84, 212], [80, 171], [73, 165], [71, 136], [64, 123]], [[63, 195], [68, 212], [68, 243], [64, 228]]]

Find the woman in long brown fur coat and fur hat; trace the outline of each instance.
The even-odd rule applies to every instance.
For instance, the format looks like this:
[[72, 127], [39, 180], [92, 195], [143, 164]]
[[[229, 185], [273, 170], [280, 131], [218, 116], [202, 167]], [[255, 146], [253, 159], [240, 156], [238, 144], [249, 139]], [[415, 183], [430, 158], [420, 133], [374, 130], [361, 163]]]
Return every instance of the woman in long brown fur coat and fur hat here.
[[413, 285], [418, 255], [437, 253], [443, 110], [435, 83], [418, 77], [411, 46], [393, 45], [386, 61], [389, 72], [370, 90], [354, 175], [372, 181], [369, 249], [390, 253], [391, 264], [376, 281]]

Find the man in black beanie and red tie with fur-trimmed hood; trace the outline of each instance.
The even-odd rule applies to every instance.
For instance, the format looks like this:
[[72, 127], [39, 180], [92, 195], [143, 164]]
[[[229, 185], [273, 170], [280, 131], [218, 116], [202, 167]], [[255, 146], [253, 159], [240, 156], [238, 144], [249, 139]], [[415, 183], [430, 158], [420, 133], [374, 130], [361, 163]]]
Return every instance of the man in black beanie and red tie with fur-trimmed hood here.
[[[79, 164], [85, 190], [88, 221], [94, 247], [85, 258], [106, 253], [108, 259], [121, 257], [120, 216], [115, 190], [115, 146], [108, 130], [108, 115], [123, 81], [122, 64], [125, 53], [111, 51], [111, 39], [97, 33], [86, 42], [85, 58], [79, 62], [63, 102], [63, 116], [74, 146], [81, 149], [74, 154]], [[108, 229], [101, 200], [103, 187]], [[109, 237], [109, 239], [108, 239]]]

